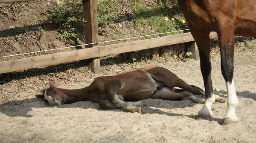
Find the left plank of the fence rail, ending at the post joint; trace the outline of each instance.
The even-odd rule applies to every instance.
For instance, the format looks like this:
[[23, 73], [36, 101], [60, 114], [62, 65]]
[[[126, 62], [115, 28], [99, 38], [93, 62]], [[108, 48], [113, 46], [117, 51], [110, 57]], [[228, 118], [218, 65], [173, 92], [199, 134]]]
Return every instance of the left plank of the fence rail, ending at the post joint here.
[[0, 74], [99, 57], [99, 47], [0, 62]]

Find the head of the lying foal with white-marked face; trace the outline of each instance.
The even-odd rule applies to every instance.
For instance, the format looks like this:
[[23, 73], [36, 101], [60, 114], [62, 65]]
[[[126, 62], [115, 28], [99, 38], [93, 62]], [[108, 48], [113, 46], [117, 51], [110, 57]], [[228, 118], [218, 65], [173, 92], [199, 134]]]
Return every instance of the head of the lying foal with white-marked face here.
[[43, 95], [37, 95], [36, 97], [42, 98], [47, 101], [50, 106], [61, 106], [64, 104], [66, 95], [56, 87], [55, 78], [50, 83], [50, 87], [43, 91]]

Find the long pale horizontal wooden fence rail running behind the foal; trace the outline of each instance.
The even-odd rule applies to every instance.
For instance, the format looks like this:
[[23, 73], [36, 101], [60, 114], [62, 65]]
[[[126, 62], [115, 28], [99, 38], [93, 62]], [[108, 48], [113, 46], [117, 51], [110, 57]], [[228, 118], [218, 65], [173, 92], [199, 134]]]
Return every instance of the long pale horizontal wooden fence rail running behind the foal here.
[[[210, 37], [216, 37], [215, 32], [211, 32]], [[0, 62], [0, 74], [15, 72], [24, 69], [51, 66], [60, 63], [73, 62], [77, 60], [90, 59], [95, 57], [121, 54], [130, 51], [139, 51], [161, 46], [174, 45], [194, 41], [191, 33], [176, 34], [165, 37], [157, 37], [146, 40], [137, 40], [126, 43], [118, 43], [106, 46], [95, 46], [93, 48], [65, 51], [55, 54], [47, 54], [37, 57], [27, 57], [18, 60], [8, 60]]]

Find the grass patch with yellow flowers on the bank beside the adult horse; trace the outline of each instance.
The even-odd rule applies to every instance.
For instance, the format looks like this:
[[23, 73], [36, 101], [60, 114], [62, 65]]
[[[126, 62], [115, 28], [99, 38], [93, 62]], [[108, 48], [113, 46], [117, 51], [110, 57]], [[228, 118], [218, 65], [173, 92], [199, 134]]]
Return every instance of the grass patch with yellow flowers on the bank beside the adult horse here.
[[[143, 4], [142, 0], [134, 0], [132, 7], [135, 9], [137, 19], [133, 20], [133, 22], [137, 28], [149, 27], [152, 31], [161, 33], [186, 29], [186, 23], [182, 23], [172, 17], [172, 8], [166, 6], [166, 4], [167, 2], [161, 3], [160, 0], [157, 0], [157, 3], [149, 8]], [[162, 34], [161, 36], [179, 33], [183, 32]]]

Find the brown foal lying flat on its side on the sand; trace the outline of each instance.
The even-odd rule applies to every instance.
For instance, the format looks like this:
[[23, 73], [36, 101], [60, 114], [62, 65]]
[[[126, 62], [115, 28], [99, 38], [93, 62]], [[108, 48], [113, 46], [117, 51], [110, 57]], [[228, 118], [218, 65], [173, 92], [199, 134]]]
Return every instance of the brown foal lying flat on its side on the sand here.
[[[175, 87], [184, 89], [175, 92]], [[199, 95], [199, 96], [197, 96]], [[201, 95], [201, 96], [200, 96]], [[190, 99], [196, 103], [204, 103], [204, 91], [197, 86], [188, 85], [174, 73], [162, 67], [143, 67], [105, 77], [97, 77], [88, 87], [82, 89], [59, 89], [54, 79], [50, 87], [44, 90], [44, 98], [51, 106], [91, 101], [99, 103], [101, 109], [117, 109], [123, 107], [130, 112], [141, 113], [145, 104], [142, 101], [125, 102], [125, 100], [143, 100], [160, 98], [165, 100]], [[218, 95], [216, 95], [218, 96]], [[222, 97], [216, 101], [225, 102]]]

